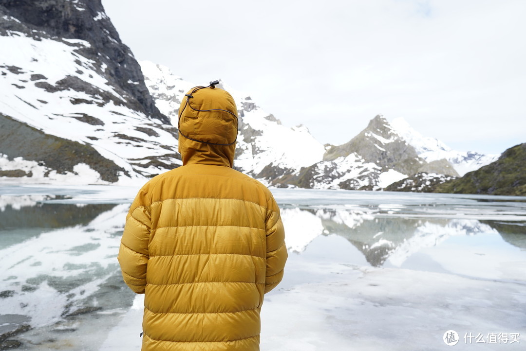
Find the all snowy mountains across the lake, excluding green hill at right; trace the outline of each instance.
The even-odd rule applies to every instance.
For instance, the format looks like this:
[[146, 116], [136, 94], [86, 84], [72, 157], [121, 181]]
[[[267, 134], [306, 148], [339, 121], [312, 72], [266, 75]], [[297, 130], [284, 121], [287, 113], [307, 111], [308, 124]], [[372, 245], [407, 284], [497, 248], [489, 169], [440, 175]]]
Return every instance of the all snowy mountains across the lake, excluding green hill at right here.
[[[100, 0], [0, 2], [0, 47], [0, 178], [123, 184], [181, 165], [177, 112], [199, 84], [139, 65]], [[234, 166], [268, 185], [382, 189], [492, 161], [382, 116], [348, 143], [324, 146], [307, 127], [282, 125], [249, 94], [221, 86], [239, 112]]]

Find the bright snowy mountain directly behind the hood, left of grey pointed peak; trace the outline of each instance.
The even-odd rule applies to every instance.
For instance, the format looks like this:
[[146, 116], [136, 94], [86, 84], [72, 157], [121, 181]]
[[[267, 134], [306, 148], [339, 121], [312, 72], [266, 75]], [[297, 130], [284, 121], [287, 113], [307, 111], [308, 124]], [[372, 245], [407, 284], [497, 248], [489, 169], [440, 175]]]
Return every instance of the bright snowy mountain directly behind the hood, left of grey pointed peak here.
[[[149, 61], [139, 63], [157, 107], [177, 125], [180, 101], [190, 88], [199, 84], [184, 81], [165, 66]], [[201, 84], [208, 85], [207, 82]], [[234, 166], [241, 172], [270, 184], [279, 176], [321, 161], [325, 148], [305, 126], [286, 127], [248, 94], [222, 81], [219, 87], [227, 90], [237, 104], [239, 134]]]

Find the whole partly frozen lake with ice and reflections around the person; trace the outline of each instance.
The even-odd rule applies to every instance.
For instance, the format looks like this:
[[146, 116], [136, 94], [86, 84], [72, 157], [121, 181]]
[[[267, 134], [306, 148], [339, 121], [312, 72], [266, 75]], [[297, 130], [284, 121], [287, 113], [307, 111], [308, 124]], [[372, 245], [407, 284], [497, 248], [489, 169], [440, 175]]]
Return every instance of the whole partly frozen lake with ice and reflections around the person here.
[[[0, 350], [140, 349], [116, 260], [137, 190], [0, 185]], [[289, 261], [262, 350], [524, 349], [526, 197], [272, 193]]]

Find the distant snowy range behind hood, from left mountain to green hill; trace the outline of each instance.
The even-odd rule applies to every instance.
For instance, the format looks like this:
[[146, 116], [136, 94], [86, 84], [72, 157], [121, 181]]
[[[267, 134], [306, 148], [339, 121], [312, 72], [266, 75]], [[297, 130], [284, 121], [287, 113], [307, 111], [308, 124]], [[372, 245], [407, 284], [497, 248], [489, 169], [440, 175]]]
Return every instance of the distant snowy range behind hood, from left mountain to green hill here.
[[[197, 84], [186, 82], [167, 67], [153, 62], [143, 61], [140, 65], [157, 107], [176, 121], [183, 95]], [[461, 153], [436, 139], [424, 138], [407, 123], [403, 125], [401, 119], [396, 120], [398, 128], [395, 128], [383, 116], [376, 116], [350, 142], [323, 146], [306, 127], [285, 127], [247, 94], [222, 85], [238, 103], [240, 131], [234, 166], [266, 184], [370, 190], [385, 188], [420, 172], [459, 176], [452, 162], [438, 157], [437, 150], [459, 159]], [[434, 158], [430, 156], [432, 151]], [[483, 155], [477, 155], [481, 162]], [[463, 156], [467, 159], [467, 155]], [[464, 171], [475, 162], [454, 164]]]

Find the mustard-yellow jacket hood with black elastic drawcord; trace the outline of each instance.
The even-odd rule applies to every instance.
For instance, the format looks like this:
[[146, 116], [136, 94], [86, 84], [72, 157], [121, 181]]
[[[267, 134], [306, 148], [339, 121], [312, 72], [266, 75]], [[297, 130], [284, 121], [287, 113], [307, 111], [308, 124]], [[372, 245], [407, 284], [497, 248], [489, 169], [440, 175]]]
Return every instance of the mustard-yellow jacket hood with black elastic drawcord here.
[[225, 90], [190, 89], [179, 107], [179, 153], [183, 165], [200, 163], [234, 166], [237, 108]]

